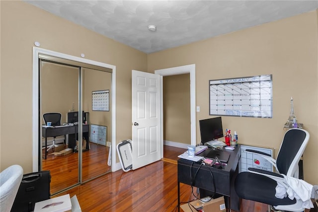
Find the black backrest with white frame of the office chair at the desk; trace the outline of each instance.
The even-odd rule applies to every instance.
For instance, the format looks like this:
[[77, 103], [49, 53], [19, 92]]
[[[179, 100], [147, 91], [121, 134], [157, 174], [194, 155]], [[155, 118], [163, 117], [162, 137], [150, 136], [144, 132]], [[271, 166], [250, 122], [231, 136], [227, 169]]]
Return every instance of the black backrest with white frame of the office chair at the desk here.
[[308, 141], [309, 133], [304, 129], [293, 128], [285, 133], [276, 158], [276, 166], [280, 174], [294, 176]]

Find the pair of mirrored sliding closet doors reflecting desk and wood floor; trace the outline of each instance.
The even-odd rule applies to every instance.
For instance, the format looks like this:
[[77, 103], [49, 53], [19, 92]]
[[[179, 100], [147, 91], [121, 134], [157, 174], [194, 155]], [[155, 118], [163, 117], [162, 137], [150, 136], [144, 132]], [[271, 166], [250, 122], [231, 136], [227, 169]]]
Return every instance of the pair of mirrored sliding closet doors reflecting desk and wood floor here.
[[45, 56], [39, 69], [39, 155], [54, 195], [111, 170], [111, 70]]

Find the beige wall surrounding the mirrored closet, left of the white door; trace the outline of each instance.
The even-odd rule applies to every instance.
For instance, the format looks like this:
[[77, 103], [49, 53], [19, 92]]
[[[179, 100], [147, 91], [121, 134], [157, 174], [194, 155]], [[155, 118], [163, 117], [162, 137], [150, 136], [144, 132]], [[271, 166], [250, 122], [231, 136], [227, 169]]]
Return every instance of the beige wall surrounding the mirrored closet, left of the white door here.
[[[147, 55], [23, 1], [0, 1], [0, 170], [32, 171], [32, 47], [116, 66], [117, 143], [131, 139], [131, 70]], [[3, 124], [5, 123], [5, 124]], [[17, 127], [19, 126], [19, 127]]]

